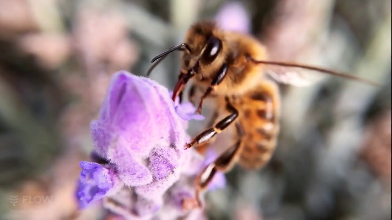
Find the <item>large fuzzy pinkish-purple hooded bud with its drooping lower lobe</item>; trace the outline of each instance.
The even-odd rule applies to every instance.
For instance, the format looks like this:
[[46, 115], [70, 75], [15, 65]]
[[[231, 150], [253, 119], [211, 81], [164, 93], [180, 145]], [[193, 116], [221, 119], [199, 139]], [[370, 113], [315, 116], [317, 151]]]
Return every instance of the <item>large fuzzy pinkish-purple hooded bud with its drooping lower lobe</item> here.
[[[182, 150], [186, 138], [169, 91], [125, 71], [113, 76], [100, 119], [91, 123], [91, 135], [96, 152], [117, 165], [120, 179], [128, 186], [152, 181], [142, 161], [154, 147], [173, 144]], [[160, 171], [155, 174], [165, 174], [163, 167]]]

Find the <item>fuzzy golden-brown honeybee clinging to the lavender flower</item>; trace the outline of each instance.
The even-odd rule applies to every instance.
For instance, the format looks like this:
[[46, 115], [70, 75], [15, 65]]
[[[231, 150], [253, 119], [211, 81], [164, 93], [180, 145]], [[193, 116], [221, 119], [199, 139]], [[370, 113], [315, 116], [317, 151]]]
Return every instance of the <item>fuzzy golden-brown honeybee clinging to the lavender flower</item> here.
[[[215, 22], [194, 23], [187, 31], [185, 43], [156, 56], [152, 69], [169, 53], [181, 50], [181, 72], [172, 99], [182, 97], [187, 82], [192, 79], [189, 100], [202, 92], [197, 112], [203, 100], [216, 103], [212, 125], [186, 145], [200, 147], [214, 141], [216, 134], [232, 130], [232, 145], [196, 178], [196, 193], [205, 190], [217, 171], [228, 172], [236, 164], [247, 169], [265, 166], [274, 153], [279, 134], [280, 97], [277, 82], [296, 84], [287, 74], [270, 74], [267, 67], [279, 66], [315, 70], [376, 85], [367, 79], [345, 73], [298, 63], [267, 61], [265, 46], [252, 36], [221, 30]], [[292, 70], [292, 69], [291, 69]], [[290, 71], [291, 71], [290, 70]], [[277, 82], [276, 82], [277, 81]], [[217, 120], [221, 117], [220, 120]]]

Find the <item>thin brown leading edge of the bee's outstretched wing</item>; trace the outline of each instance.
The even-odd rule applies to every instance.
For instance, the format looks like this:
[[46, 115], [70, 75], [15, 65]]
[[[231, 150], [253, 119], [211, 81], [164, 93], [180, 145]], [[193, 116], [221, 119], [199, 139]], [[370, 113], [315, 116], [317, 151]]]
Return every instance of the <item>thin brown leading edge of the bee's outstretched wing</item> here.
[[254, 60], [249, 54], [247, 55], [247, 58], [250, 61], [252, 61], [253, 63], [276, 65], [276, 66], [282, 66], [282, 67], [298, 67], [298, 68], [302, 68], [302, 69], [315, 70], [315, 71], [318, 71], [318, 72], [331, 74], [333, 76], [338, 76], [338, 77], [341, 77], [341, 78], [352, 79], [352, 80], [356, 80], [356, 81], [359, 81], [359, 82], [362, 82], [362, 83], [367, 83], [367, 84], [374, 85], [374, 86], [380, 86], [379, 83], [370, 81], [368, 79], [360, 78], [358, 76], [353, 76], [353, 75], [350, 75], [350, 74], [347, 74], [347, 73], [343, 73], [343, 72], [323, 69], [323, 68], [320, 68], [320, 67], [314, 67], [314, 66], [305, 65], [305, 64], [299, 64], [299, 63], [289, 63], [289, 62], [280, 62], [280, 61], [266, 61], [266, 60]]

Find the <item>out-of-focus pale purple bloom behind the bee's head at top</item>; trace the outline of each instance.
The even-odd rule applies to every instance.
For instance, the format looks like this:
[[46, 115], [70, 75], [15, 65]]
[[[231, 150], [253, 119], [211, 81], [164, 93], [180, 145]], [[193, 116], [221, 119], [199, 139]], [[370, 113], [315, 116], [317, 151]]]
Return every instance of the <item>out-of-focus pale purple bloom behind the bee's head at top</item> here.
[[240, 2], [224, 4], [216, 14], [215, 20], [224, 30], [249, 33], [249, 13]]

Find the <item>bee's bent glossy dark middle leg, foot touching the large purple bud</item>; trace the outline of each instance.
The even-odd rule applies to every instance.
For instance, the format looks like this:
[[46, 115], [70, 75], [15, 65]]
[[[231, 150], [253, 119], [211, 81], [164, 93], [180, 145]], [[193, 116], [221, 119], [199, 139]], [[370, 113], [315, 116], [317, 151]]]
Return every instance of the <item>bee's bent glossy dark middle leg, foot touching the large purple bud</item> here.
[[229, 103], [228, 98], [226, 98], [226, 101], [227, 101], [226, 108], [232, 114], [219, 121], [214, 127], [209, 128], [204, 132], [201, 132], [191, 141], [191, 143], [185, 146], [185, 149], [192, 147], [194, 144], [200, 145], [204, 142], [209, 141], [217, 133], [221, 133], [225, 128], [227, 128], [227, 126], [229, 126], [238, 117], [238, 110]]

